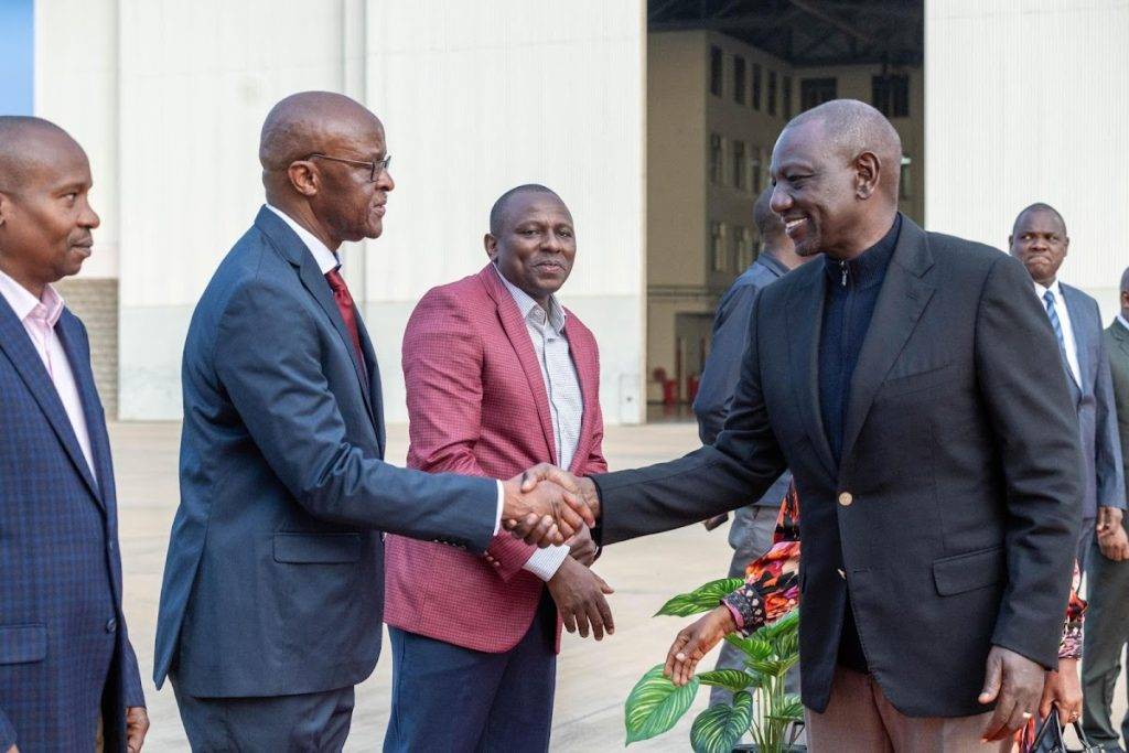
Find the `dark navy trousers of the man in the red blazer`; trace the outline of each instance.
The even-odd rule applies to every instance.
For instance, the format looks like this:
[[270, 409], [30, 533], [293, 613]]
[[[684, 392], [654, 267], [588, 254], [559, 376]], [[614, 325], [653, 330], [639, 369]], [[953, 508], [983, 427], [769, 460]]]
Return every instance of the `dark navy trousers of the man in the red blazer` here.
[[557, 607], [548, 590], [525, 637], [487, 654], [390, 628], [392, 718], [385, 753], [549, 750]]

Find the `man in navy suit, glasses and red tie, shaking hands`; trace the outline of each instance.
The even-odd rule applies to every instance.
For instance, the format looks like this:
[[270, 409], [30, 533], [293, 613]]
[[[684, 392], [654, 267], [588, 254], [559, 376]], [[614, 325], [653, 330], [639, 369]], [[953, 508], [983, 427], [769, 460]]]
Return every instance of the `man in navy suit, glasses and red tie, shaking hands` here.
[[332, 751], [380, 650], [382, 531], [484, 552], [501, 519], [532, 513], [541, 542], [562, 543], [580, 504], [522, 476], [384, 463], [379, 370], [335, 253], [383, 230], [384, 126], [348, 97], [296, 94], [266, 116], [259, 158], [266, 205], [184, 347], [154, 676], [172, 677], [195, 750]]

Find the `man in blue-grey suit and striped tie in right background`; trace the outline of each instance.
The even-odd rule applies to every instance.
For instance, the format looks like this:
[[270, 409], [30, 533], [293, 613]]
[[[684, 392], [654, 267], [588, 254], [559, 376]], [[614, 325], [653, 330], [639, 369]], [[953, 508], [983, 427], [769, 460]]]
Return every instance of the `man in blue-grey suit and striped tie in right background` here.
[[1070, 396], [1078, 408], [1085, 480], [1078, 566], [1085, 572], [1095, 528], [1105, 552], [1104, 542], [1113, 543], [1110, 536], [1121, 531], [1126, 506], [1121, 441], [1101, 312], [1096, 300], [1058, 280], [1070, 238], [1062, 216], [1053, 207], [1035, 203], [1019, 212], [1008, 245], [1034, 281], [1035, 295], [1058, 338]]

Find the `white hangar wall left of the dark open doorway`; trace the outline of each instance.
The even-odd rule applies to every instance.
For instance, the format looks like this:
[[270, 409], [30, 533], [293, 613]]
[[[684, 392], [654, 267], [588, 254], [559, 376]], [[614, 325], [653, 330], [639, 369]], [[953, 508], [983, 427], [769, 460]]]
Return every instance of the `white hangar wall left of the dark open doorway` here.
[[263, 117], [332, 89], [395, 155], [385, 236], [345, 249], [388, 419], [415, 300], [475, 272], [490, 204], [541, 182], [577, 222], [562, 298], [601, 341], [605, 420], [641, 420], [644, 44], [644, 0], [37, 0], [37, 112], [87, 147], [105, 221], [85, 273], [121, 282], [121, 417], [180, 417], [192, 308], [262, 200]]

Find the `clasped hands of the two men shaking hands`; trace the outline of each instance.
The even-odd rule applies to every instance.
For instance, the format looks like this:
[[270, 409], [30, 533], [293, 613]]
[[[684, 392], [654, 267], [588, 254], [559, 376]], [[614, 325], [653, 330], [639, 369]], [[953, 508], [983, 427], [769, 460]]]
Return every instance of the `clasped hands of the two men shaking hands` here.
[[504, 481], [502, 488], [502, 525], [527, 544], [563, 544], [599, 517], [596, 484], [549, 463]]

